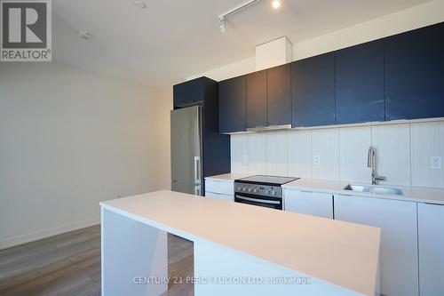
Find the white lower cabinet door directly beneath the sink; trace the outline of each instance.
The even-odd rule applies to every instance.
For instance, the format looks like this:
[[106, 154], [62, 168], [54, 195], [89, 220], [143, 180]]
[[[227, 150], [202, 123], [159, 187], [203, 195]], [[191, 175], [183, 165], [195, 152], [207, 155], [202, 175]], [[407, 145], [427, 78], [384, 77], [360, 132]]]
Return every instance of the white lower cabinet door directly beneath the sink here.
[[336, 220], [381, 228], [381, 293], [417, 296], [416, 203], [341, 195], [334, 201]]

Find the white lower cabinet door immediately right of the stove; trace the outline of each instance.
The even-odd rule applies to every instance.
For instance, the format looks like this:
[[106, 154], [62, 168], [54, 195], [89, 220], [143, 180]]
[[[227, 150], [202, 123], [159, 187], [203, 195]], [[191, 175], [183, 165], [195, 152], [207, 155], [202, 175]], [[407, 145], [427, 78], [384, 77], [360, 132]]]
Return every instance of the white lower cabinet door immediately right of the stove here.
[[316, 193], [284, 189], [285, 211], [333, 219], [333, 196], [329, 193]]

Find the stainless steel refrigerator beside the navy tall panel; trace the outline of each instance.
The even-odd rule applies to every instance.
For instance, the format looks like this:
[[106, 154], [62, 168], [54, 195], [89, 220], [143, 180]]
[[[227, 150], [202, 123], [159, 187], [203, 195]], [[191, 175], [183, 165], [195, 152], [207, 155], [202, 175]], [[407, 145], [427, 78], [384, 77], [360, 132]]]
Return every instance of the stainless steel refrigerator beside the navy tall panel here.
[[202, 107], [171, 110], [171, 190], [202, 195]]

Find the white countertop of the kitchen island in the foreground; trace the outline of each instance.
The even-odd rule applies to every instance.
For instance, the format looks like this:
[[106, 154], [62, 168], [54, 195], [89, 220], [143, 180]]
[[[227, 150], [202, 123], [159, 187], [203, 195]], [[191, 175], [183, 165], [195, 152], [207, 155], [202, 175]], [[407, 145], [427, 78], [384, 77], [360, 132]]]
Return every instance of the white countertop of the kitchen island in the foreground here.
[[374, 295], [380, 229], [157, 191], [100, 203], [192, 241], [210, 241], [282, 268]]

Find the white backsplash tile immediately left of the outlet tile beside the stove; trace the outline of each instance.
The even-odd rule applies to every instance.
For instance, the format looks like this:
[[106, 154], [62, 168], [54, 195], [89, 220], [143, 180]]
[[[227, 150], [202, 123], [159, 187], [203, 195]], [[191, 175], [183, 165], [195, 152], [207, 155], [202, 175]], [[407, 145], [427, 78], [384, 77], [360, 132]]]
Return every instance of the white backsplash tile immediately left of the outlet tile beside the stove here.
[[312, 178], [312, 132], [289, 131], [287, 137], [288, 175]]

